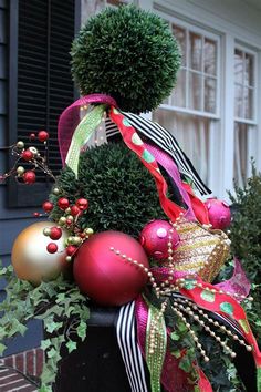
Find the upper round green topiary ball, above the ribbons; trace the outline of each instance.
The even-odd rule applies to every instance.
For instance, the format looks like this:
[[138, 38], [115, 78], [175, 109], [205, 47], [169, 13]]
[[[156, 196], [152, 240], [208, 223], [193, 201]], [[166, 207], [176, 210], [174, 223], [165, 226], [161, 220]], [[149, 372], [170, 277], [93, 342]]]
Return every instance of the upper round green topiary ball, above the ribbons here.
[[107, 8], [91, 18], [71, 54], [82, 94], [108, 94], [134, 113], [156, 109], [170, 94], [180, 66], [167, 23], [134, 6]]

